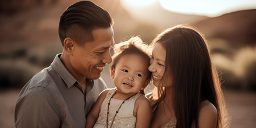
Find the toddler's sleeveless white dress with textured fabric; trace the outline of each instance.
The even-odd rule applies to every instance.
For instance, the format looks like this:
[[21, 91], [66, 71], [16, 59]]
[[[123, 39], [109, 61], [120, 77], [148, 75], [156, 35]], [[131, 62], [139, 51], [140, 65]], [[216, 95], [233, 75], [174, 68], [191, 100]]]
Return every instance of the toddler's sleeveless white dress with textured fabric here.
[[[106, 128], [106, 113], [108, 112], [108, 102], [109, 102], [109, 99], [112, 97], [112, 95], [115, 94], [115, 91], [116, 91], [116, 88], [113, 88], [109, 90], [108, 94], [106, 94], [106, 97], [101, 104], [99, 117], [94, 127]], [[135, 102], [137, 98], [140, 97], [140, 95], [142, 94], [137, 93], [130, 99], [127, 99], [127, 101], [125, 101], [125, 103], [121, 106], [119, 111], [118, 111], [118, 108], [124, 100], [112, 98], [109, 105], [108, 127], [111, 126], [112, 121], [113, 121], [112, 127], [135, 127], [136, 117], [133, 116], [133, 109], [134, 109]], [[116, 111], [118, 111], [118, 113], [116, 114], [115, 120], [113, 120], [113, 117], [115, 116]]]

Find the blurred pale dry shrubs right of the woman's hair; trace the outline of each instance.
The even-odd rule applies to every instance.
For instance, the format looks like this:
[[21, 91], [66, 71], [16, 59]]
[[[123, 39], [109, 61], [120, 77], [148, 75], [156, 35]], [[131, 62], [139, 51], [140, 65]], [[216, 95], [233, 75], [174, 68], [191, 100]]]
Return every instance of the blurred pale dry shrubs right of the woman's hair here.
[[223, 85], [227, 88], [256, 90], [256, 47], [239, 49], [233, 58], [214, 54], [215, 65], [223, 70]]

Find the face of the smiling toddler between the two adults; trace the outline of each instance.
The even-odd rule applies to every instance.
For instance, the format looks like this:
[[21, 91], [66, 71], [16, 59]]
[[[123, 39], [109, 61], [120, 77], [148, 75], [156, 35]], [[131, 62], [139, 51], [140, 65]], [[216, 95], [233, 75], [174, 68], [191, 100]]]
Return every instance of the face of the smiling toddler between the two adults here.
[[[134, 95], [149, 83], [148, 59], [141, 55], [127, 54], [122, 56], [115, 69], [111, 69], [118, 93]], [[148, 80], [147, 80], [148, 79]], [[147, 81], [146, 81], [147, 80]]]

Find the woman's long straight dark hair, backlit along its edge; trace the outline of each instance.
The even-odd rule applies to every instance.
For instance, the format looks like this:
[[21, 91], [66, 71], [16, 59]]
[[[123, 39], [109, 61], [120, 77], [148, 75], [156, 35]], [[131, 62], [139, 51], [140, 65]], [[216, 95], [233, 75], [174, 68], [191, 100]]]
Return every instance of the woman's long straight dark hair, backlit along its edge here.
[[[218, 73], [212, 63], [207, 41], [198, 30], [188, 25], [178, 25], [163, 31], [151, 44], [159, 43], [166, 49], [165, 74], [172, 74], [173, 110], [176, 127], [198, 127], [200, 103], [207, 99], [218, 111], [217, 127], [228, 127], [229, 117]], [[163, 74], [160, 86], [150, 97], [154, 109], [165, 97]], [[157, 95], [157, 98], [154, 98]]]

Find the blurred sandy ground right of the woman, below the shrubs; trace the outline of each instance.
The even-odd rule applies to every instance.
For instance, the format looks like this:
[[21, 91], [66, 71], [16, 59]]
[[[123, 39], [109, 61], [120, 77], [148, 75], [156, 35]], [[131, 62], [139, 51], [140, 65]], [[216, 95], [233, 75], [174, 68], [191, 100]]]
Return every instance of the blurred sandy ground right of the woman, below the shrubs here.
[[231, 128], [256, 127], [256, 92], [226, 91]]

